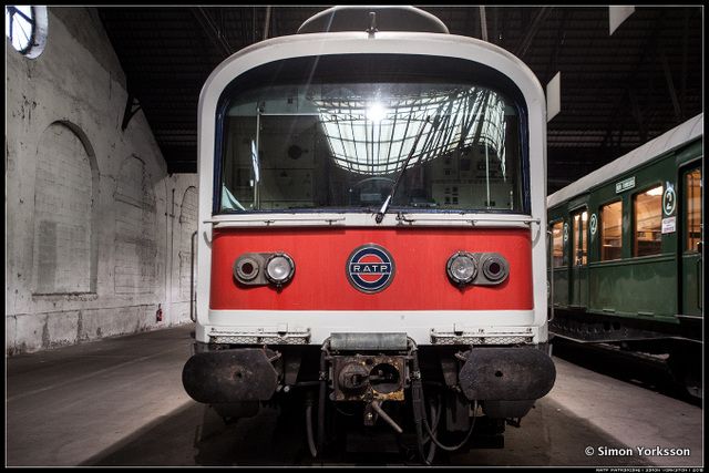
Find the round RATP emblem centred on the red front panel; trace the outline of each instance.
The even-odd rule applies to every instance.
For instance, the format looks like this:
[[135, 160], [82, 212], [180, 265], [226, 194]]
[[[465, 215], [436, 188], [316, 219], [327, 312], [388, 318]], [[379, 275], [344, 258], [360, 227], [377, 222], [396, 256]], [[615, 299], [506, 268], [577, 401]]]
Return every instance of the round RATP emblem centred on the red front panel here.
[[382, 291], [394, 278], [394, 260], [383, 247], [362, 245], [347, 258], [347, 279], [354, 289], [374, 294]]

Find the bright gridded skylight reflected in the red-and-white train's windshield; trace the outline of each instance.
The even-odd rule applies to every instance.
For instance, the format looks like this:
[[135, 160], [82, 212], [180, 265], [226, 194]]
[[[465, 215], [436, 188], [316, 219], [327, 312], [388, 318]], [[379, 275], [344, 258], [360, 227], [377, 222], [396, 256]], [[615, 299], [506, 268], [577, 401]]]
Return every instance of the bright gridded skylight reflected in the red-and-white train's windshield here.
[[[493, 150], [505, 174], [505, 101], [487, 89], [452, 86], [427, 93], [315, 97], [330, 154], [354, 173], [387, 175], [445, 155], [473, 141]], [[462, 131], [476, 131], [463, 133]], [[414, 146], [414, 136], [421, 140]]]

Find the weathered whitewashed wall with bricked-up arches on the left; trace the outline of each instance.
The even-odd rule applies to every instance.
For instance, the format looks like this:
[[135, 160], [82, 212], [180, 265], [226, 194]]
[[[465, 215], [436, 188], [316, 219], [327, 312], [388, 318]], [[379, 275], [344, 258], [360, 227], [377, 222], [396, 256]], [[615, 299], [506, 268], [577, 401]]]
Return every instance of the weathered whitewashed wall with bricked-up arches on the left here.
[[196, 175], [167, 174], [142, 111], [121, 128], [95, 10], [48, 10], [39, 56], [6, 38], [7, 354], [191, 322]]

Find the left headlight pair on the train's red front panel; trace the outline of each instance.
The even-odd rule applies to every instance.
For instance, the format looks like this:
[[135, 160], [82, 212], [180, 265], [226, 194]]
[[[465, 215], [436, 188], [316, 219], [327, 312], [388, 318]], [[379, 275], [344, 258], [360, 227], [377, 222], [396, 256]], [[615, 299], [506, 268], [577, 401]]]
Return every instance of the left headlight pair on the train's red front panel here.
[[246, 253], [234, 261], [234, 278], [246, 286], [286, 285], [296, 264], [285, 253]]

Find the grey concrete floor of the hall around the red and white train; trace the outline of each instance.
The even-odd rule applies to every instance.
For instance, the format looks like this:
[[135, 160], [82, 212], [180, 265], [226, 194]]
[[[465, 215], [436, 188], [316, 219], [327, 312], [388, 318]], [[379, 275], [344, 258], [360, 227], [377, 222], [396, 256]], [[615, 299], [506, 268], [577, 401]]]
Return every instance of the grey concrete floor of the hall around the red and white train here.
[[[192, 329], [7, 359], [7, 465], [405, 464], [395, 456], [314, 462], [299, 412], [263, 409], [224, 425], [182, 388]], [[559, 358], [555, 363], [554, 389], [521, 429], [507, 426], [504, 449], [439, 454], [436, 463], [703, 466], [701, 408]], [[638, 446], [691, 453], [644, 455]], [[626, 448], [633, 452], [600, 454]]]

